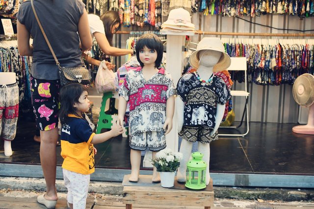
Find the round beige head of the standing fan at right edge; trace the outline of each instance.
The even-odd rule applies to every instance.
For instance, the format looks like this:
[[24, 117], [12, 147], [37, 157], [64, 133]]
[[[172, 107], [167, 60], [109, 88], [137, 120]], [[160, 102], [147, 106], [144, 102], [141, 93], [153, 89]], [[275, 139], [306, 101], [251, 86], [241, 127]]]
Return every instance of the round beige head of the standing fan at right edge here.
[[292, 89], [296, 103], [309, 107], [314, 103], [314, 76], [304, 73], [295, 79]]

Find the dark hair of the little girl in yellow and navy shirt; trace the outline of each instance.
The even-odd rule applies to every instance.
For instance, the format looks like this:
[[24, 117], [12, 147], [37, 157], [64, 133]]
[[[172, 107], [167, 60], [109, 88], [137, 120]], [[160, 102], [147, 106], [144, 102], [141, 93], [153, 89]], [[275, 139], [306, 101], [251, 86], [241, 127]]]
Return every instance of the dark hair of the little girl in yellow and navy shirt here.
[[73, 107], [74, 103], [79, 103], [78, 99], [83, 92], [88, 92], [87, 88], [79, 83], [68, 84], [61, 88], [59, 94], [60, 111], [59, 118], [61, 124], [65, 123], [68, 114], [74, 114], [78, 117], [77, 109]]

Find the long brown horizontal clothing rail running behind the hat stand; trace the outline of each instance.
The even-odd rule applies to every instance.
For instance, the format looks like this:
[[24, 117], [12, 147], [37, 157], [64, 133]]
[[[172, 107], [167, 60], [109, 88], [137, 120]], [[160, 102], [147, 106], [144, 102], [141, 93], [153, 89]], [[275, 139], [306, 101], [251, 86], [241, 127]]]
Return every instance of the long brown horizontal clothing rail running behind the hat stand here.
[[[131, 31], [117, 31], [117, 34], [130, 34]], [[236, 32], [209, 32], [196, 30], [197, 35], [219, 36], [268, 36], [268, 37], [314, 37], [314, 33], [236, 33]]]

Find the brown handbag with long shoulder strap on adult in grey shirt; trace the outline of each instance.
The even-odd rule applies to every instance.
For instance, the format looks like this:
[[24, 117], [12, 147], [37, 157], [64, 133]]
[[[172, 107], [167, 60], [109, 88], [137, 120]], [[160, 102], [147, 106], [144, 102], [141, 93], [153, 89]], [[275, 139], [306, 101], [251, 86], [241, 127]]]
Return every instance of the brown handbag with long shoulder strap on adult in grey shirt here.
[[46, 33], [44, 31], [44, 28], [38, 19], [37, 13], [35, 11], [33, 0], [31, 0], [30, 3], [31, 3], [31, 7], [33, 9], [35, 18], [37, 20], [37, 23], [40, 27], [40, 30], [43, 33], [44, 38], [45, 38], [45, 40], [49, 46], [49, 49], [52, 53], [52, 56], [54, 58], [54, 61], [59, 68], [59, 77], [60, 77], [61, 86], [64, 86], [64, 85], [70, 84], [70, 83], [81, 83], [83, 85], [90, 84], [92, 76], [90, 74], [90, 71], [86, 69], [86, 66], [84, 65], [83, 59], [82, 59], [82, 63], [83, 63], [82, 66], [72, 67], [72, 68], [65, 68], [65, 67], [60, 66], [60, 63], [54, 54], [52, 46], [50, 45], [50, 42], [48, 41], [48, 38], [47, 38]]

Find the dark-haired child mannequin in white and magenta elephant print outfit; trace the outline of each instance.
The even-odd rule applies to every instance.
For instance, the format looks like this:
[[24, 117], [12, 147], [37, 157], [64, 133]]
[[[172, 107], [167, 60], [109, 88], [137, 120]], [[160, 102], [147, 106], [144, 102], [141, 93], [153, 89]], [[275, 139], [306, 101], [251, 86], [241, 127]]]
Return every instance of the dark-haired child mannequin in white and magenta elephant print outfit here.
[[[154, 34], [144, 34], [136, 41], [135, 49], [141, 67], [127, 73], [119, 90], [117, 121], [123, 125], [129, 101], [131, 182], [138, 181], [141, 151], [148, 146], [155, 159], [156, 152], [166, 147], [164, 135], [172, 129], [175, 93], [171, 75], [160, 68], [163, 54], [161, 40]], [[152, 181], [160, 181], [155, 167]]]

